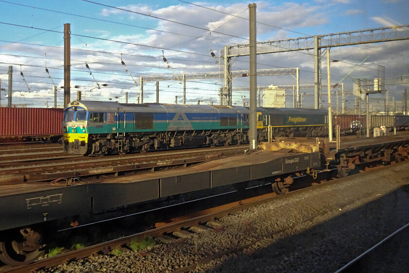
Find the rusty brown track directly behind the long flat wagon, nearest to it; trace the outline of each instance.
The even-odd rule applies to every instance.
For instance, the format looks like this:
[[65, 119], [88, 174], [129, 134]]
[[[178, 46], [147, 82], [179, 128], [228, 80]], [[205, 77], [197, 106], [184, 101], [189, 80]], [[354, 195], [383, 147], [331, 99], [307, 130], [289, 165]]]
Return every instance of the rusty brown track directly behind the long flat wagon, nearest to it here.
[[[143, 170], [155, 171], [175, 166], [188, 166], [222, 156], [242, 154], [247, 145], [212, 147], [164, 151], [147, 154], [129, 154], [122, 156], [86, 157], [75, 156], [55, 161], [40, 161], [31, 163], [0, 163], [2, 184], [50, 181], [62, 177], [107, 175], [118, 172], [136, 172]], [[14, 181], [14, 182], [13, 182]]]

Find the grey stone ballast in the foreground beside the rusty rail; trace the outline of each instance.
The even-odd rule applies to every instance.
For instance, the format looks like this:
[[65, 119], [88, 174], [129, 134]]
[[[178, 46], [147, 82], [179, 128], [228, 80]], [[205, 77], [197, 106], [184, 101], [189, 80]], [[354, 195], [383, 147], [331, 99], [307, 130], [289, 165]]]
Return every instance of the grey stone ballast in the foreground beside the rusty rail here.
[[[288, 195], [225, 216], [221, 227], [190, 238], [42, 272], [335, 272], [409, 222], [408, 166]], [[389, 269], [383, 272], [397, 272]]]

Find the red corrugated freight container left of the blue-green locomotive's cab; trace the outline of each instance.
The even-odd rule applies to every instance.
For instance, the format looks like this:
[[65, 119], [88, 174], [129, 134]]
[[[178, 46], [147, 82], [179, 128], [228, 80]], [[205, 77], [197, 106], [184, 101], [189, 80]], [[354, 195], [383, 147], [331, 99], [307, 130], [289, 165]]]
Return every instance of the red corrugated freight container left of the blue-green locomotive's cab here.
[[0, 137], [61, 136], [61, 108], [0, 108]]

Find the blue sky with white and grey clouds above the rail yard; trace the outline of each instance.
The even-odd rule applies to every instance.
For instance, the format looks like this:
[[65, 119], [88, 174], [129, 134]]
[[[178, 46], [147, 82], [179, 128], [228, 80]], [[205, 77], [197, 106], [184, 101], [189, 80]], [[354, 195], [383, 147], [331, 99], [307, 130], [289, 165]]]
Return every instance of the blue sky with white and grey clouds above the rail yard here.
[[[407, 0], [256, 1], [257, 40], [268, 41], [325, 35], [409, 24]], [[249, 2], [183, 0], [0, 0], [1, 106], [7, 103], [8, 68], [13, 66], [13, 103], [16, 106], [63, 105], [63, 30], [71, 24], [71, 99], [137, 102], [140, 76], [218, 72], [217, 58], [226, 45], [248, 43]], [[368, 59], [356, 67], [366, 57]], [[163, 61], [165, 57], [169, 66]], [[322, 83], [326, 83], [323, 54]], [[353, 106], [353, 78], [409, 75], [409, 40], [344, 46], [331, 49], [331, 82], [345, 79], [347, 107]], [[121, 64], [126, 63], [127, 69]], [[220, 59], [219, 59], [220, 60]], [[258, 55], [258, 69], [295, 68], [300, 84], [314, 83], [313, 52]], [[86, 67], [88, 64], [89, 68]], [[48, 69], [49, 74], [45, 68]], [[232, 60], [232, 70], [248, 70], [248, 57]], [[21, 75], [23, 74], [23, 76]], [[136, 83], [134, 82], [136, 81]], [[260, 76], [259, 86], [295, 84], [291, 75]], [[108, 86], [98, 85], [108, 84]], [[75, 88], [76, 86], [76, 88]], [[186, 103], [201, 100], [219, 104], [223, 78], [186, 80]], [[233, 104], [248, 103], [247, 78], [233, 80]], [[408, 84], [387, 86], [389, 99], [400, 101]], [[181, 81], [159, 82], [160, 102], [182, 103]], [[156, 82], [144, 83], [144, 102], [156, 101]], [[323, 88], [323, 92], [326, 89]], [[292, 107], [292, 90], [287, 90]], [[304, 107], [313, 107], [312, 89], [301, 89]], [[324, 93], [325, 93], [324, 92]], [[305, 94], [305, 95], [304, 95]], [[385, 95], [371, 96], [381, 108]], [[333, 98], [334, 100], [335, 98]], [[326, 98], [322, 98], [325, 108]], [[335, 102], [333, 102], [335, 103]]]

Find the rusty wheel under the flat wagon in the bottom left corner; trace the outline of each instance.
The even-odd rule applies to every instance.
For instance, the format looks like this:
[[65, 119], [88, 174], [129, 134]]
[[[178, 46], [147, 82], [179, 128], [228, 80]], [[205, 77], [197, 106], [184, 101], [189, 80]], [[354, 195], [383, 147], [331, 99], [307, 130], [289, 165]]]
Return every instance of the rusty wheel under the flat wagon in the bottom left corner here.
[[30, 228], [20, 230], [16, 240], [0, 241], [0, 260], [13, 266], [27, 265], [38, 259], [43, 254], [41, 250], [45, 245], [40, 245], [41, 235]]

